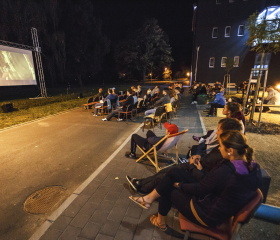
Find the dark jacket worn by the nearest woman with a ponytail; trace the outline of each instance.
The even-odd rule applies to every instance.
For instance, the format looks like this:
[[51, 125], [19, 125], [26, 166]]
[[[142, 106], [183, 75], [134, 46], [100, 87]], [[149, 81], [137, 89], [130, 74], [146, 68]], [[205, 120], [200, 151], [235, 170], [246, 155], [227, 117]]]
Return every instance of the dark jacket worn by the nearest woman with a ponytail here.
[[199, 183], [181, 184], [180, 188], [192, 195], [199, 217], [211, 227], [234, 216], [254, 196], [261, 186], [261, 171], [253, 165], [249, 174], [236, 173], [233, 164], [224, 160]]

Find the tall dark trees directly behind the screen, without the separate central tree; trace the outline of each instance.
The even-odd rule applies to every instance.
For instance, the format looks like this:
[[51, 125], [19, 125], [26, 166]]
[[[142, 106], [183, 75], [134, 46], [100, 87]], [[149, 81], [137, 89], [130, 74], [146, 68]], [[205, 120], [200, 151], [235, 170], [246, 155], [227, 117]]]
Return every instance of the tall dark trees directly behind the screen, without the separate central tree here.
[[110, 41], [89, 0], [1, 0], [0, 39], [32, 45], [37, 28], [48, 86], [92, 83]]

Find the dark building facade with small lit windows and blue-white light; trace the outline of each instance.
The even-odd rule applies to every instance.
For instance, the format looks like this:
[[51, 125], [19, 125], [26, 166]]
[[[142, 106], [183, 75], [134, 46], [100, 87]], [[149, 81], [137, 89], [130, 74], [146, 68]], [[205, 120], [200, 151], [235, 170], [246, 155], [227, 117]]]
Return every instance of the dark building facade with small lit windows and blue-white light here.
[[[255, 12], [259, 18], [280, 18], [279, 0], [197, 0], [194, 5], [192, 81], [223, 82], [227, 63], [231, 82], [248, 80], [258, 67], [260, 56], [246, 45], [247, 19]], [[280, 31], [280, 26], [276, 26]], [[268, 84], [280, 82], [280, 54], [266, 54]]]

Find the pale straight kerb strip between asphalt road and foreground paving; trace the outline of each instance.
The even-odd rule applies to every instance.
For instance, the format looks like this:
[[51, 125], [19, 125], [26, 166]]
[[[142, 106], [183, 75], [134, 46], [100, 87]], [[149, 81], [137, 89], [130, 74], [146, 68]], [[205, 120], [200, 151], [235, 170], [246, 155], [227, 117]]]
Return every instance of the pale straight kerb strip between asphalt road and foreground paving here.
[[[142, 124], [136, 128], [132, 133], [137, 133], [141, 129]], [[63, 213], [63, 211], [70, 206], [70, 204], [79, 196], [79, 194], [94, 180], [94, 178], [114, 159], [114, 157], [124, 148], [124, 146], [130, 141], [130, 134], [127, 139], [120, 145], [110, 157], [106, 159], [63, 203], [55, 210], [47, 220], [37, 229], [37, 231], [29, 238], [29, 240], [39, 240], [52, 223]]]

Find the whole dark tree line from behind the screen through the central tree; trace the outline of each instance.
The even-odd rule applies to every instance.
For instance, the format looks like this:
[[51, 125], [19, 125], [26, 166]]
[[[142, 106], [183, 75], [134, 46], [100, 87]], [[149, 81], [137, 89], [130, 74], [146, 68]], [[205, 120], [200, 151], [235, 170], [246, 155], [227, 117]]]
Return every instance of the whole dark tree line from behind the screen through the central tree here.
[[32, 45], [30, 29], [37, 28], [47, 86], [103, 82], [101, 73], [114, 68], [108, 59], [116, 73], [139, 80], [173, 61], [168, 37], [155, 19], [111, 44], [91, 0], [1, 0], [0, 9], [1, 40]]

